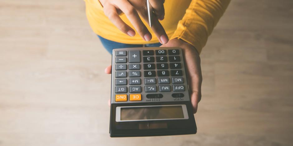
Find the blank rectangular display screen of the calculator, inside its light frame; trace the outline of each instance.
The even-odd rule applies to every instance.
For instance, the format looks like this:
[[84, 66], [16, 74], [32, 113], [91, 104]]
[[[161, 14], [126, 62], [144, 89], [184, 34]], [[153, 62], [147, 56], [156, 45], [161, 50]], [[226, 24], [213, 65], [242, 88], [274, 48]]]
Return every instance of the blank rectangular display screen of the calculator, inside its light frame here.
[[152, 120], [184, 118], [182, 106], [122, 107], [120, 120]]

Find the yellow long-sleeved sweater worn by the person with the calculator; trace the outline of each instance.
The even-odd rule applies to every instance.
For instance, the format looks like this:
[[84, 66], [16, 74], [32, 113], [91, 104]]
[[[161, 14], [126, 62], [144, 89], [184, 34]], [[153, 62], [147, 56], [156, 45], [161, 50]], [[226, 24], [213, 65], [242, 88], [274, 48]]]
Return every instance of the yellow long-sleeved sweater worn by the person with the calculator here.
[[[134, 37], [122, 33], [105, 16], [98, 0], [84, 0], [86, 15], [93, 31], [101, 37], [128, 44], [158, 43], [159, 40], [149, 25], [144, 24], [153, 36], [151, 41], [144, 41], [137, 33]], [[165, 18], [161, 21], [169, 39], [183, 39], [192, 44], [198, 52], [207, 42], [208, 36], [223, 15], [231, 0], [166, 0]], [[134, 28], [123, 14], [121, 19]]]

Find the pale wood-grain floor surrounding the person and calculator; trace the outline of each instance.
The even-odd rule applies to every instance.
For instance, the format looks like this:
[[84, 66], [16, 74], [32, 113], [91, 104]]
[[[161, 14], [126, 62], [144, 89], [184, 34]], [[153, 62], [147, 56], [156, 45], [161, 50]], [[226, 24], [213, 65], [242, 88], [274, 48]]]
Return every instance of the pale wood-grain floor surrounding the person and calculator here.
[[110, 138], [111, 56], [84, 1], [1, 0], [0, 146], [292, 145], [292, 5], [230, 3], [201, 54], [196, 135]]

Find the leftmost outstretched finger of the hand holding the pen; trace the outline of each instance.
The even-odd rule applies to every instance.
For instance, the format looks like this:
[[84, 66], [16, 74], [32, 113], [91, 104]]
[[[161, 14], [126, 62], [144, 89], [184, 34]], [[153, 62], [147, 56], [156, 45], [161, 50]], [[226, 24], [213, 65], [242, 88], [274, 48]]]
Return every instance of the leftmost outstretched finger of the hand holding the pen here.
[[119, 17], [116, 8], [113, 5], [105, 5], [104, 13], [109, 18], [109, 20], [123, 33], [128, 34], [133, 37], [135, 35], [135, 31], [127, 25], [122, 19]]

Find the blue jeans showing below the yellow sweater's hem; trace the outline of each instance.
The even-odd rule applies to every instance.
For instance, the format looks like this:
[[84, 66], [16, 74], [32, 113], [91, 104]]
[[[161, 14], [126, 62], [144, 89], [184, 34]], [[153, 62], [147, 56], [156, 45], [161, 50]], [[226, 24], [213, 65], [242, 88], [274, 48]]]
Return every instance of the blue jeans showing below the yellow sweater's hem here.
[[[101, 40], [103, 46], [107, 49], [107, 51], [112, 54], [113, 49], [117, 48], [134, 48], [134, 47], [143, 47], [143, 44], [126, 44], [126, 43], [118, 43], [114, 41], [110, 41], [108, 39], [102, 38], [99, 36], [99, 39]], [[160, 47], [161, 43], [151, 43], [151, 44], [145, 44], [145, 47]]]

